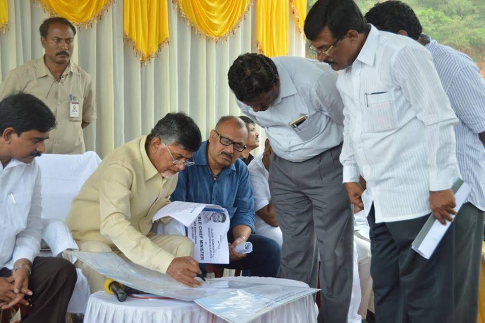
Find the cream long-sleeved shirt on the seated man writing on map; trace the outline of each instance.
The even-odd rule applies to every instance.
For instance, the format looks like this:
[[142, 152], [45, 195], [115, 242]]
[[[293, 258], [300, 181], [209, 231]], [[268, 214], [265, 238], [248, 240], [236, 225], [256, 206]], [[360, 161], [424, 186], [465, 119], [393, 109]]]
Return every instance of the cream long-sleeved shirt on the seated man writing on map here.
[[66, 223], [75, 240], [107, 243], [134, 263], [165, 273], [175, 257], [147, 235], [154, 214], [170, 203], [177, 176], [157, 171], [146, 140], [143, 135], [106, 156], [74, 198]]

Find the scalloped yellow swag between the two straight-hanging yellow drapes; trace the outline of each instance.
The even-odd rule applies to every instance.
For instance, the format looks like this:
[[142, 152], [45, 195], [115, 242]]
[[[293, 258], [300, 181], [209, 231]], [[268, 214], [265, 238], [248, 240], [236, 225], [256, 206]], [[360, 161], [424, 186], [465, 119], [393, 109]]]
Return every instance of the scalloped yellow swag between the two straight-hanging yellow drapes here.
[[245, 18], [254, 0], [173, 0], [197, 33], [212, 40], [227, 38]]

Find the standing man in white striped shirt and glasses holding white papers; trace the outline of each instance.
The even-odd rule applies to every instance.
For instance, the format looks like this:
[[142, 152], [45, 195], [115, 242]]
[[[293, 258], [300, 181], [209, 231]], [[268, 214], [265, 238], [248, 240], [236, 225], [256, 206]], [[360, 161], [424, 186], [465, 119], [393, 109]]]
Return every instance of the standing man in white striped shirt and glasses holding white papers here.
[[411, 249], [429, 213], [453, 220], [459, 177], [458, 119], [429, 52], [366, 23], [352, 0], [320, 0], [305, 34], [318, 60], [341, 70], [344, 147], [340, 160], [353, 204], [359, 174], [373, 198], [368, 220], [377, 322], [453, 322], [454, 226], [430, 259]]

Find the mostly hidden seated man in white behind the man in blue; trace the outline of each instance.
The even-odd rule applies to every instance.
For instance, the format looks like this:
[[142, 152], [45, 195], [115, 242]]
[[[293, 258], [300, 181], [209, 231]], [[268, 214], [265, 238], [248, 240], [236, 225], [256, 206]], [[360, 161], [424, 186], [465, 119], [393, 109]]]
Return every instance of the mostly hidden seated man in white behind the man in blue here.
[[256, 234], [273, 239], [281, 248], [283, 245], [283, 234], [278, 226], [278, 220], [274, 213], [274, 206], [271, 202], [271, 194], [269, 192], [268, 170], [270, 154], [271, 146], [269, 139], [266, 139], [264, 142], [264, 152], [256, 156], [249, 163], [248, 170], [254, 195]]

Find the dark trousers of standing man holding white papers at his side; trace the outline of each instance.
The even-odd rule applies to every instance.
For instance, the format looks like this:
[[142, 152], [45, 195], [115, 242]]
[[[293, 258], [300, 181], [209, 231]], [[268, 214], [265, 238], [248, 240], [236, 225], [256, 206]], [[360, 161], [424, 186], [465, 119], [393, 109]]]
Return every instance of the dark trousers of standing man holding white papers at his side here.
[[454, 234], [448, 228], [430, 259], [411, 249], [428, 216], [375, 223], [368, 216], [376, 323], [453, 323]]

